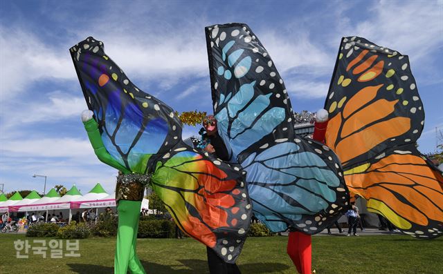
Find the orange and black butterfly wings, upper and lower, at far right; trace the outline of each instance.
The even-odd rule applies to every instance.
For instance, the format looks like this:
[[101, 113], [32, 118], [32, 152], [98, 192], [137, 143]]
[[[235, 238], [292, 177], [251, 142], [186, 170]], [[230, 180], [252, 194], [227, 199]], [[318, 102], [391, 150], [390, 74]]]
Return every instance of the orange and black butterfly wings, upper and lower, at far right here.
[[343, 38], [325, 109], [327, 145], [368, 209], [409, 235], [443, 233], [442, 174], [415, 148], [424, 110], [408, 57]]

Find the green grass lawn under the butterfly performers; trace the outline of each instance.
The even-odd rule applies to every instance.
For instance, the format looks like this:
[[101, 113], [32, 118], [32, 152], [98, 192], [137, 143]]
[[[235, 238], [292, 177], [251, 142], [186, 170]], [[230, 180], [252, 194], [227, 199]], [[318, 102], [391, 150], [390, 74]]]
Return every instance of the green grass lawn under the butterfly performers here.
[[[0, 273], [113, 273], [114, 238], [80, 239], [81, 257], [63, 259], [42, 259], [32, 251], [28, 259], [17, 259], [15, 239], [28, 239], [32, 244], [37, 238], [1, 234]], [[287, 237], [283, 236], [248, 238], [237, 264], [244, 274], [296, 273], [286, 244]], [[312, 267], [320, 274], [443, 273], [442, 248], [443, 238], [313, 237]], [[138, 239], [137, 249], [149, 274], [208, 273], [206, 248], [194, 239]]]

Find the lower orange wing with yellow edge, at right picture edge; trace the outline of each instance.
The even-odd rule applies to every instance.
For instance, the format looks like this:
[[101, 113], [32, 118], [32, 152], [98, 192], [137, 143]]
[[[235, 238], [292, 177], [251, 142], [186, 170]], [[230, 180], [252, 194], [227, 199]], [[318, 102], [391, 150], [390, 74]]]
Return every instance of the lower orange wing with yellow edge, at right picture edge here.
[[392, 148], [380, 159], [345, 170], [352, 193], [408, 235], [443, 233], [443, 175], [414, 145]]

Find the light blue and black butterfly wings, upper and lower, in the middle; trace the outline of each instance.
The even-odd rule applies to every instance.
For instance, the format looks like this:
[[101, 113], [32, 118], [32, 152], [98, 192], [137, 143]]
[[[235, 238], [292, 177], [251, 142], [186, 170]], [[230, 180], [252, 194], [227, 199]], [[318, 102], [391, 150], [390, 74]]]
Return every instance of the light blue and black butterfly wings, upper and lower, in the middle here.
[[206, 41], [218, 132], [246, 170], [253, 212], [272, 231], [322, 231], [348, 206], [336, 155], [295, 135], [283, 81], [247, 25], [207, 27]]

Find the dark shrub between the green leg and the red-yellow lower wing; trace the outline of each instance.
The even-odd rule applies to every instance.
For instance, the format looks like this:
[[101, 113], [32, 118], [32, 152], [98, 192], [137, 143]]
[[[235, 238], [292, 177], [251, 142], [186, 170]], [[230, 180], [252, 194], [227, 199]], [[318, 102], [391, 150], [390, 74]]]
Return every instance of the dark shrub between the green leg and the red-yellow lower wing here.
[[174, 222], [165, 219], [150, 219], [138, 223], [139, 238], [172, 238]]

